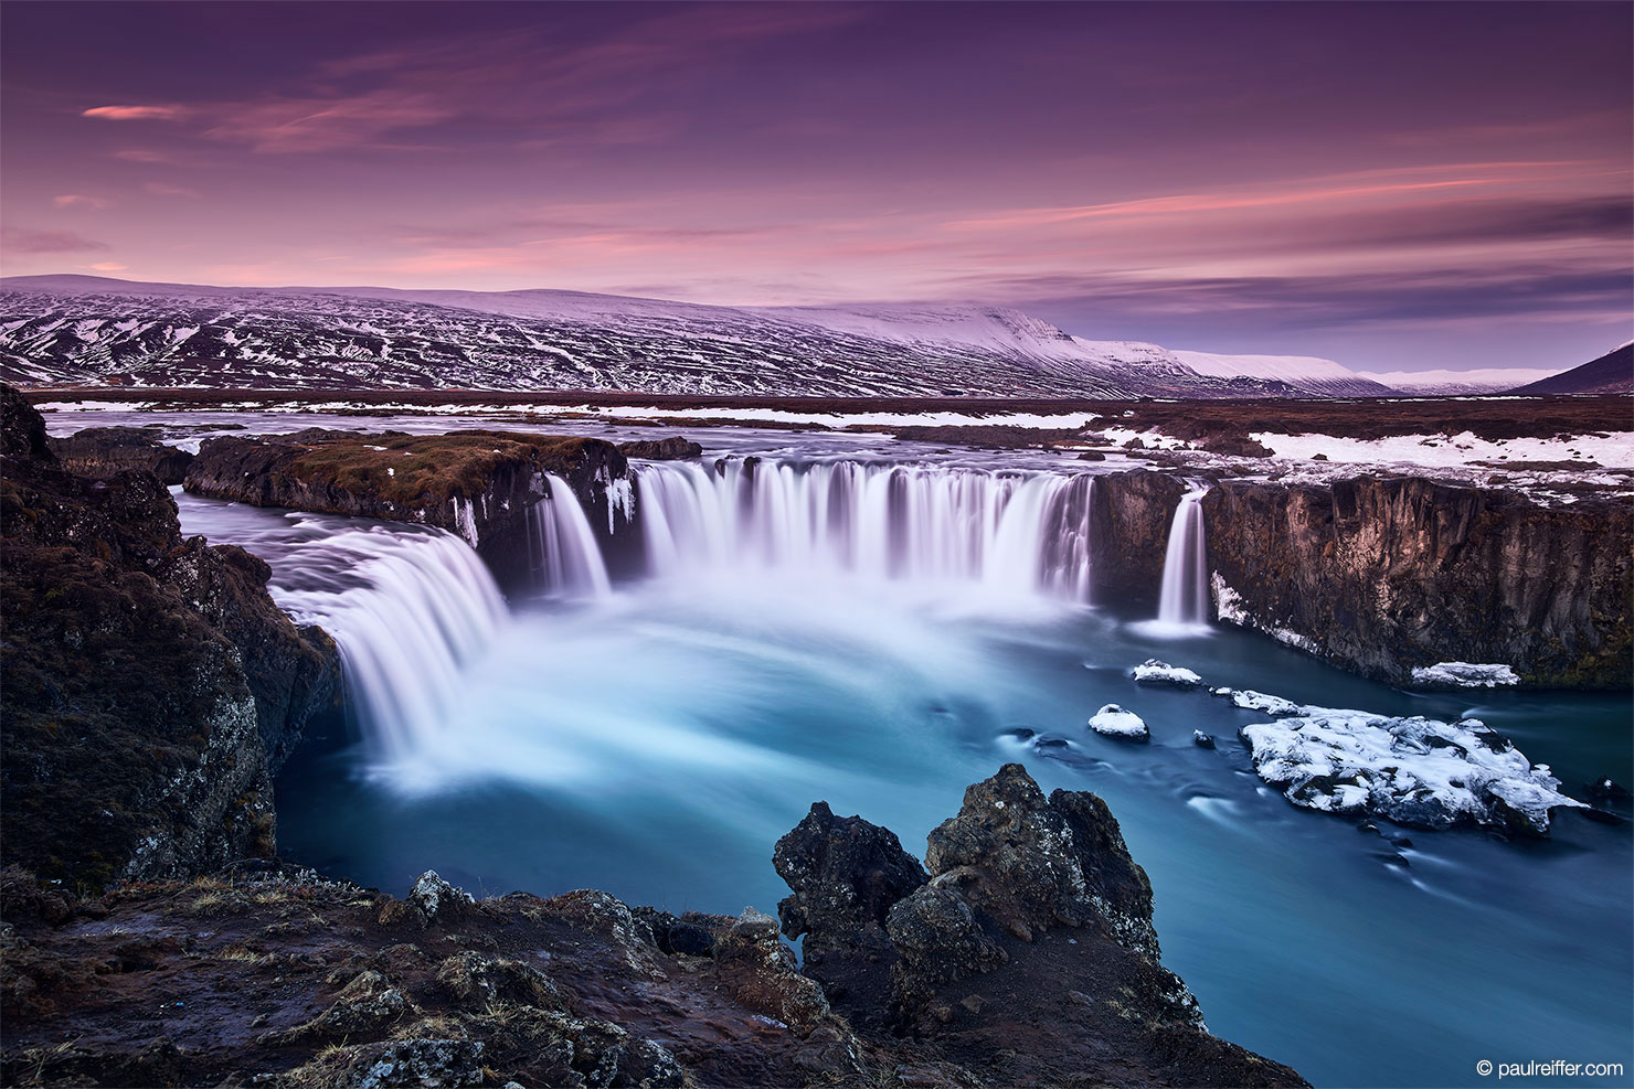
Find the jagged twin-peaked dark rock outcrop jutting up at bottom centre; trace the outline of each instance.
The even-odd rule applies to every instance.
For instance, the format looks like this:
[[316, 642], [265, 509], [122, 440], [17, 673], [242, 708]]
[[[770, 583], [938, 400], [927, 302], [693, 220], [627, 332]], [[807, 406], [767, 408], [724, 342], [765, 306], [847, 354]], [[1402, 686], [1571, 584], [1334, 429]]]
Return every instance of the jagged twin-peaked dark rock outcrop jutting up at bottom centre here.
[[1124, 1084], [1131, 1071], [1141, 1084], [1304, 1084], [1203, 1029], [1159, 963], [1152, 887], [1093, 793], [1046, 798], [1007, 764], [930, 834], [917, 887], [895, 836], [820, 803], [776, 864], [794, 888], [784, 932], [806, 936], [806, 971], [835, 1007], [864, 1035], [907, 1032], [920, 1061], [980, 1065], [972, 1084]]

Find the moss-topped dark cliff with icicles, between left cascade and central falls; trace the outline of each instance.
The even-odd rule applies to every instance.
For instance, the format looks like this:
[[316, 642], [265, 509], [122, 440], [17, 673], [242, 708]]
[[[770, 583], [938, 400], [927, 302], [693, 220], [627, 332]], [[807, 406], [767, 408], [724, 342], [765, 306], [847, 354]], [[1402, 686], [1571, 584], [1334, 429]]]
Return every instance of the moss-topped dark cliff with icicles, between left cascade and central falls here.
[[[381, 518], [459, 534], [505, 583], [526, 578], [529, 508], [552, 473], [603, 544], [629, 524], [629, 462], [611, 442], [513, 431], [294, 434], [208, 439], [186, 490], [255, 506]], [[627, 536], [626, 536], [627, 537]]]

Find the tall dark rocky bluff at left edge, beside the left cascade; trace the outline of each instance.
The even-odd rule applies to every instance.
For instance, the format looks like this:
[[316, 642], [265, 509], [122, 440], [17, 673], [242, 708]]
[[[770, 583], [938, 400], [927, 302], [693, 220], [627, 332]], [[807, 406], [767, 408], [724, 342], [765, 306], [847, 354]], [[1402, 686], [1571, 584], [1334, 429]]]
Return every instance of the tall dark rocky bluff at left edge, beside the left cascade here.
[[271, 776], [333, 704], [333, 642], [273, 606], [265, 563], [185, 540], [150, 472], [65, 472], [0, 402], [0, 857], [96, 888], [271, 856]]

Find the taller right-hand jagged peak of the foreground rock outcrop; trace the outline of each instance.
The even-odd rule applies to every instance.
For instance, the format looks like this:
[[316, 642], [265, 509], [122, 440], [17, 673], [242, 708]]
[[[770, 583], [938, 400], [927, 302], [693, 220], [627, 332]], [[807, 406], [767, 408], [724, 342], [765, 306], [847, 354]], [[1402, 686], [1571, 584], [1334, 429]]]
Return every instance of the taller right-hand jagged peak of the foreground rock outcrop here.
[[964, 792], [959, 815], [930, 833], [925, 865], [941, 888], [1029, 940], [1052, 926], [1105, 924], [1152, 960], [1152, 885], [1106, 803], [1087, 790], [1046, 802], [1021, 764]]

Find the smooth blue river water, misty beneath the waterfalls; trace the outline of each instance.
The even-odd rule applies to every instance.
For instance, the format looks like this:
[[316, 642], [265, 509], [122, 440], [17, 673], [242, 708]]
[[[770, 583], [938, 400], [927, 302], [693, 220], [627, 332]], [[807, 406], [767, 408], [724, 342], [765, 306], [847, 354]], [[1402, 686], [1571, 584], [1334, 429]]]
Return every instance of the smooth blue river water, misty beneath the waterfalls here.
[[[359, 593], [402, 604], [389, 580], [407, 568], [392, 557], [453, 542], [178, 501], [186, 532], [266, 558], [297, 614], [373, 616]], [[405, 699], [371, 709], [343, 749], [286, 769], [286, 856], [399, 895], [435, 869], [487, 895], [595, 887], [670, 911], [775, 911], [788, 890], [771, 847], [812, 802], [922, 852], [967, 784], [1021, 761], [1046, 792], [1111, 805], [1152, 878], [1163, 963], [1209, 1029], [1314, 1084], [1493, 1084], [1479, 1060], [1634, 1069], [1627, 825], [1560, 813], [1541, 842], [1358, 831], [1253, 774], [1235, 731], [1263, 715], [1126, 673], [1155, 656], [1296, 702], [1476, 715], [1575, 797], [1598, 776], [1629, 777], [1626, 694], [1409, 694], [1232, 629], [1163, 638], [1145, 617], [1072, 601], [835, 570], [717, 565], [508, 607], [472, 593], [382, 625], [430, 624], [456, 668], [426, 679], [387, 663]], [[1088, 730], [1109, 702], [1145, 718], [1150, 745]], [[1391, 842], [1402, 836], [1412, 846]]]

